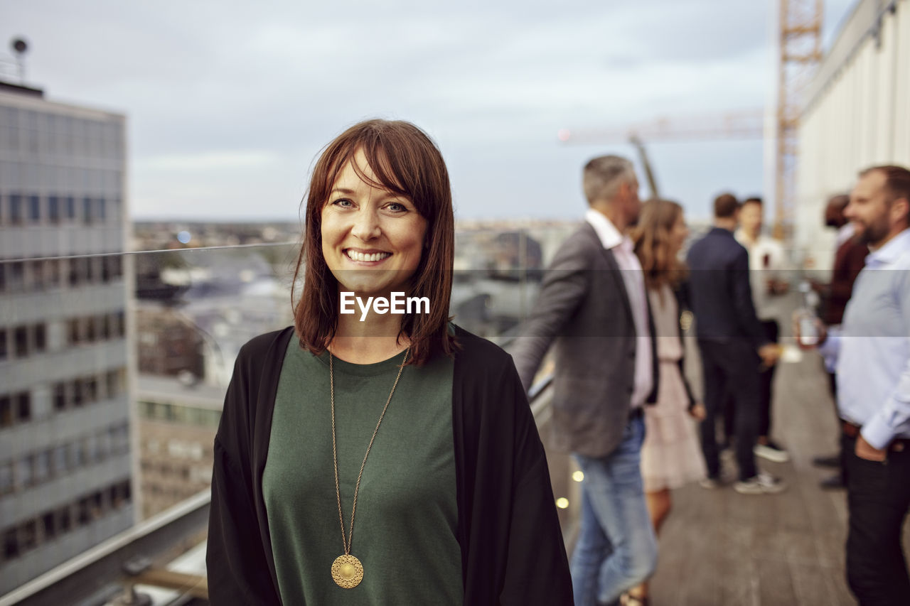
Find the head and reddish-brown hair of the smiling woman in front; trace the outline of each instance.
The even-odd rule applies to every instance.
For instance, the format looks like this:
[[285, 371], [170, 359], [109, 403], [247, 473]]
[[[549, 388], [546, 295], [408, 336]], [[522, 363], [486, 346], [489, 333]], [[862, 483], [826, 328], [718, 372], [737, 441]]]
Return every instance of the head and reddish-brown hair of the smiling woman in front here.
[[298, 271], [305, 266], [304, 287], [295, 308], [305, 347], [319, 353], [334, 336], [337, 349], [362, 352], [363, 343], [339, 339], [339, 289], [367, 296], [403, 290], [429, 298], [430, 313], [370, 322], [370, 336], [398, 338], [397, 344], [381, 339], [396, 351], [370, 340], [370, 361], [398, 353], [405, 335], [410, 364], [420, 365], [434, 350], [454, 351], [447, 328], [455, 249], [449, 173], [439, 149], [417, 126], [373, 120], [330, 143], [313, 170], [305, 221], [298, 258]]

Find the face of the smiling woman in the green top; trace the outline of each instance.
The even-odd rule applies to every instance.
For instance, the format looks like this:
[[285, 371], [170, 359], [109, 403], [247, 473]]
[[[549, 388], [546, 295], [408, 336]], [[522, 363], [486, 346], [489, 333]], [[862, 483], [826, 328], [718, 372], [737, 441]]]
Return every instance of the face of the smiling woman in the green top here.
[[[353, 162], [375, 174], [361, 150]], [[404, 291], [420, 265], [427, 220], [409, 198], [372, 187], [348, 164], [322, 207], [322, 255], [339, 289], [359, 296]]]

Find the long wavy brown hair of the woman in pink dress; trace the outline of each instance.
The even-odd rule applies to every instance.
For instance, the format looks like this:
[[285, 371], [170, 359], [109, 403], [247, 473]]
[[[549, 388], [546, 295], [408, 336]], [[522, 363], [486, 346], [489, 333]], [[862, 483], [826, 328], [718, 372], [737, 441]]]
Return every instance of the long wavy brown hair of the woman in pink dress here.
[[670, 235], [679, 217], [682, 207], [671, 200], [653, 199], [642, 204], [632, 241], [649, 289], [658, 290], [664, 284], [676, 288], [688, 274], [685, 263], [670, 250]]

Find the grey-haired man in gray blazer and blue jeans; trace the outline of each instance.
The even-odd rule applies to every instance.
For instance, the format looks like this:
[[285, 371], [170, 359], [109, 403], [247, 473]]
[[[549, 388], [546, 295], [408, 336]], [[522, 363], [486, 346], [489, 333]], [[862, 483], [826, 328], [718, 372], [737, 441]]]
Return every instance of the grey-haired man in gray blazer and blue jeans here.
[[657, 542], [639, 469], [642, 406], [657, 392], [657, 355], [642, 267], [626, 232], [641, 208], [622, 157], [592, 159], [590, 208], [562, 243], [512, 354], [525, 389], [553, 348], [553, 446], [575, 455], [581, 530], [571, 559], [577, 606], [609, 604], [647, 579]]

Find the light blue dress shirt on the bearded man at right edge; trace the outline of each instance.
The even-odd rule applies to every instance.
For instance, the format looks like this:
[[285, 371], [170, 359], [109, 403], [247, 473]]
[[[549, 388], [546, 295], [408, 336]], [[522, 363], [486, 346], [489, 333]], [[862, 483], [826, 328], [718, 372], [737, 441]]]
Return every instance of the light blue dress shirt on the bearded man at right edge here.
[[837, 409], [865, 441], [910, 438], [910, 229], [865, 258], [844, 323], [819, 351], [836, 360]]

